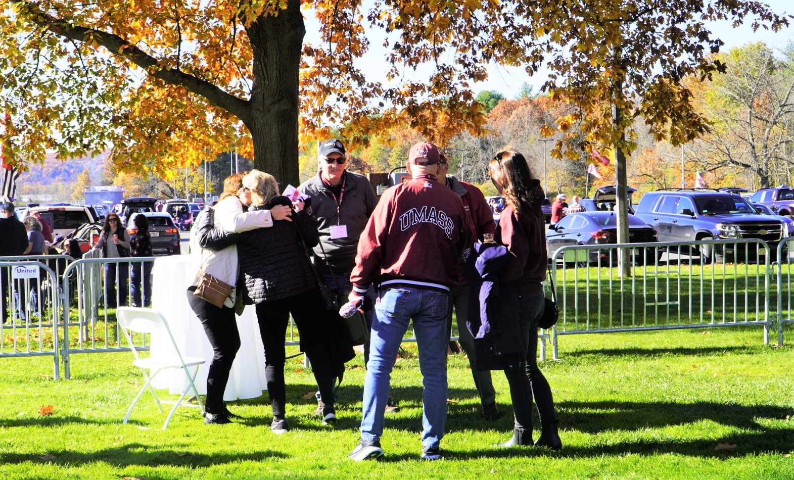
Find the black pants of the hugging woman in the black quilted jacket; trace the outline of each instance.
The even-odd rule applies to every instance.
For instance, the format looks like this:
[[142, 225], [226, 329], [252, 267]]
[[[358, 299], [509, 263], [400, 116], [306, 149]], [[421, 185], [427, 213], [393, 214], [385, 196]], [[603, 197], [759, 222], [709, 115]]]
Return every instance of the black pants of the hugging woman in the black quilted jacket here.
[[333, 355], [330, 336], [322, 324], [322, 311], [317, 290], [297, 294], [281, 300], [256, 304], [256, 320], [264, 344], [264, 377], [268, 382], [268, 395], [273, 417], [283, 418], [286, 412], [287, 389], [284, 385], [284, 338], [292, 314], [298, 327], [301, 348], [311, 362], [311, 370], [325, 404], [324, 413], [333, 409]]

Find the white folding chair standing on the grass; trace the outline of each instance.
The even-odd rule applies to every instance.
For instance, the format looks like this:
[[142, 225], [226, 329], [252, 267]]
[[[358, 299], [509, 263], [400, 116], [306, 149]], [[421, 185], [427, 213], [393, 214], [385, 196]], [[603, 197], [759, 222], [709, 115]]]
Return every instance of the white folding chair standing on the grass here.
[[[129, 405], [129, 409], [127, 410], [127, 414], [124, 417], [124, 421], [122, 423], [127, 423], [127, 420], [129, 420], [129, 414], [132, 413], [133, 407], [141, 398], [141, 395], [144, 394], [146, 389], [152, 392], [152, 397], [154, 397], [154, 401], [157, 404], [157, 408], [160, 409], [160, 413], [164, 413], [163, 407], [160, 406], [160, 403], [174, 405], [174, 408], [171, 409], [171, 413], [168, 413], [168, 418], [165, 419], [163, 430], [168, 428], [168, 422], [171, 421], [176, 409], [182, 404], [184, 398], [191, 391], [195, 395], [196, 399], [198, 399], [198, 405], [185, 404], [183, 406], [198, 407], [201, 409], [202, 413], [204, 413], [204, 404], [201, 401], [201, 397], [198, 396], [198, 390], [196, 390], [195, 383], [193, 382], [195, 380], [196, 374], [198, 374], [198, 366], [204, 363], [204, 359], [186, 357], [179, 352], [179, 347], [176, 345], [174, 336], [172, 336], [171, 330], [168, 328], [168, 322], [165, 321], [163, 315], [156, 310], [138, 307], [119, 307], [116, 310], [116, 318], [118, 320], [119, 328], [121, 328], [121, 331], [124, 332], [124, 336], [127, 337], [129, 348], [132, 349], [133, 355], [135, 355], [133, 365], [141, 368], [141, 372], [144, 374], [144, 378], [146, 380], [145, 385], [143, 388], [141, 388], [141, 391], [138, 392], [135, 400], [133, 400], [133, 404]], [[171, 339], [171, 343], [174, 347], [175, 355], [163, 359], [141, 358], [141, 355], [138, 354], [138, 349], [133, 342], [133, 332], [149, 333], [152, 336], [168, 336], [168, 338]], [[189, 367], [194, 368], [191, 369]], [[146, 373], [147, 369], [151, 372], [150, 374]], [[185, 372], [185, 378], [187, 378], [188, 385], [183, 389], [182, 395], [179, 396], [179, 400], [177, 401], [160, 400], [160, 398], [157, 397], [157, 394], [155, 394], [154, 388], [152, 388], [152, 379], [155, 378], [156, 375], [161, 371], [168, 371], [170, 369], [181, 369]]]

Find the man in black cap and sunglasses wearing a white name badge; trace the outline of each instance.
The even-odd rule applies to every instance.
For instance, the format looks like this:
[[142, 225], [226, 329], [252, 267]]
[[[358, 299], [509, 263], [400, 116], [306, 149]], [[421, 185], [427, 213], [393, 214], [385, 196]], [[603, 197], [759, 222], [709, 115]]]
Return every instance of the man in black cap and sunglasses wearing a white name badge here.
[[[318, 148], [318, 174], [298, 187], [311, 197], [311, 209], [318, 221], [320, 244], [314, 247], [314, 268], [326, 286], [336, 295], [339, 305], [347, 301], [353, 285], [350, 271], [356, 264], [358, 237], [364, 231], [372, 210], [378, 203], [375, 190], [364, 176], [345, 168], [345, 145], [332, 138]], [[375, 296], [374, 290], [369, 295]], [[372, 310], [364, 313], [372, 325]], [[364, 363], [368, 345], [364, 345]], [[318, 392], [319, 395], [319, 392]], [[322, 415], [319, 396], [316, 415]]]

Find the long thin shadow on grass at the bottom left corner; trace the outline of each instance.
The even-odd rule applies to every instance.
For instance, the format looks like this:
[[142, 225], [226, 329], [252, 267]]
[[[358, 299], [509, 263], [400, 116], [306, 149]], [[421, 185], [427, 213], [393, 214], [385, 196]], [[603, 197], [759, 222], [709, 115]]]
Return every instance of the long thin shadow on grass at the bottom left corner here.
[[[179, 451], [162, 450], [145, 444], [128, 444], [119, 447], [105, 448], [98, 451], [78, 452], [68, 450], [48, 451], [55, 459], [45, 461], [69, 466], [87, 465], [106, 462], [114, 467], [148, 467], [152, 465], [168, 465], [171, 467], [210, 467], [219, 463], [239, 463], [245, 460], [260, 461], [265, 459], [287, 459], [289, 455], [280, 451], [254, 451], [243, 453], [233, 451], [229, 453], [213, 453], [203, 455], [191, 453], [191, 447], [185, 445]], [[0, 455], [3, 463], [40, 462], [40, 455], [6, 454]]]

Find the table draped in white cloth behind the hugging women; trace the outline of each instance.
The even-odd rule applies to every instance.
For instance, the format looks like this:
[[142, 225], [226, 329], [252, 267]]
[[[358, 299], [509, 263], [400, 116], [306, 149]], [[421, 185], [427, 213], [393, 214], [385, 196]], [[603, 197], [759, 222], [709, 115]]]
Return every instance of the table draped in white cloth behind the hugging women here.
[[[206, 377], [212, 363], [212, 347], [198, 317], [187, 303], [188, 275], [198, 268], [198, 255], [171, 255], [155, 260], [152, 267], [152, 308], [163, 314], [182, 355], [205, 359], [199, 366], [195, 386], [199, 394], [206, 394]], [[223, 399], [259, 397], [267, 390], [264, 378], [264, 347], [256, 323], [253, 305], [245, 307], [237, 319], [241, 346], [234, 359], [229, 383]], [[167, 338], [152, 338], [152, 357], [171, 355], [173, 347]], [[170, 374], [170, 376], [169, 376]], [[152, 385], [156, 389], [168, 388], [172, 394], [181, 394], [187, 381], [181, 371], [164, 372]]]

